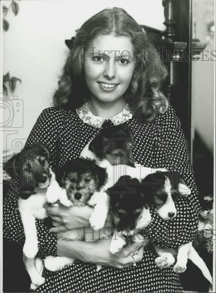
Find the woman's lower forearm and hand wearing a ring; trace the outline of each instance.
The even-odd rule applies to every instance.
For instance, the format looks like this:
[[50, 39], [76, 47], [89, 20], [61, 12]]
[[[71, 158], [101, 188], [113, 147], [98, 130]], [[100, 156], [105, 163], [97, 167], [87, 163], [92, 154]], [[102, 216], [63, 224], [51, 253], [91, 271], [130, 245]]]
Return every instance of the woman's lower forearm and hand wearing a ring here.
[[[115, 268], [130, 267], [133, 265], [133, 258], [136, 263], [142, 260], [143, 243], [134, 242], [130, 246], [123, 247], [118, 253], [112, 254], [109, 251], [111, 239], [112, 237], [108, 236], [108, 239], [100, 239], [90, 243], [58, 239], [57, 253], [61, 256], [78, 258], [88, 263]], [[133, 258], [130, 256], [131, 254]]]

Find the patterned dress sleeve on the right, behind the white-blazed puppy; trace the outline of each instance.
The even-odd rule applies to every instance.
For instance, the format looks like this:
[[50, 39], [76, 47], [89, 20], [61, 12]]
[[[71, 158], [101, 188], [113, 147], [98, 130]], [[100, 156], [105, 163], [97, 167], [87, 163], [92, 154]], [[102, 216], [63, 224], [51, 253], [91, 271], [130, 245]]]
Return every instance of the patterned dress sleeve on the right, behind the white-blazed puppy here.
[[166, 113], [159, 115], [152, 140], [154, 168], [164, 167], [170, 171], [179, 171], [191, 189], [190, 195], [180, 196], [175, 202], [177, 215], [174, 219], [164, 221], [151, 209], [153, 221], [147, 226], [147, 238], [156, 246], [171, 248], [192, 241], [196, 235], [199, 201], [188, 142], [180, 120], [171, 106]]

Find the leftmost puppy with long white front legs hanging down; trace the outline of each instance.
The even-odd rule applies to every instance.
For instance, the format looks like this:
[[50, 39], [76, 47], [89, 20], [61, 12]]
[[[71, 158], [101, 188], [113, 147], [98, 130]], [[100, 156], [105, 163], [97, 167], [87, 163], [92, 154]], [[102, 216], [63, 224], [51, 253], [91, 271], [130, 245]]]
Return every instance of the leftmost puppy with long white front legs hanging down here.
[[45, 279], [36, 270], [35, 256], [38, 252], [35, 218], [48, 217], [43, 204], [46, 191], [55, 178], [49, 167], [49, 152], [46, 147], [34, 149], [34, 145], [13, 156], [4, 166], [5, 171], [13, 177], [19, 175], [18, 209], [25, 233], [23, 253], [26, 256], [25, 266], [32, 281], [31, 288], [40, 286]]

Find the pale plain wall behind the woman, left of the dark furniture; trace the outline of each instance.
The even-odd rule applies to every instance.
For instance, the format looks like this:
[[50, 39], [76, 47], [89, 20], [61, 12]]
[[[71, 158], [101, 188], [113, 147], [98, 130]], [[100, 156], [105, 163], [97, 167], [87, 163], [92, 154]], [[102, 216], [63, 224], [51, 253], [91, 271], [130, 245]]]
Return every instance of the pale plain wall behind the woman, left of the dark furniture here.
[[[11, 1], [2, 1], [9, 6]], [[18, 134], [4, 132], [4, 149], [12, 141], [17, 151], [25, 143], [41, 111], [51, 105], [58, 75], [69, 52], [65, 39], [75, 35], [75, 30], [84, 21], [107, 6], [124, 8], [140, 24], [165, 29], [161, 0], [133, 1], [17, 1], [20, 9], [17, 16], [8, 12], [6, 20], [10, 27], [3, 32], [3, 74], [22, 80], [17, 83], [13, 95], [23, 100], [24, 125]], [[10, 128], [8, 130], [15, 130]], [[8, 135], [11, 133], [10, 135]], [[6, 137], [7, 134], [7, 137]], [[15, 140], [14, 140], [15, 139]], [[6, 145], [7, 144], [7, 145]], [[17, 147], [15, 145], [17, 144]]]

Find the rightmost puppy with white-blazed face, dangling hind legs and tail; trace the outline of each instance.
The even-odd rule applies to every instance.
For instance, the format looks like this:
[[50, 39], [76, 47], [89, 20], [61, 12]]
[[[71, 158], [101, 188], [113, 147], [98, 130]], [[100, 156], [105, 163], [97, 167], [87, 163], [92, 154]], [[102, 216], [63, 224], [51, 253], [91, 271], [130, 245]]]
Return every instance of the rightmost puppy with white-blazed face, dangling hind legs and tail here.
[[[179, 196], [191, 194], [191, 190], [185, 185], [178, 172], [156, 172], [148, 175], [142, 180], [142, 192], [149, 202], [152, 200], [153, 207], [163, 220], [173, 219], [177, 210], [175, 201]], [[154, 246], [159, 255], [155, 262], [159, 268], [166, 268], [175, 262], [173, 256], [177, 256], [177, 263], [173, 270], [177, 273], [184, 272], [187, 268], [187, 259], [200, 268], [206, 279], [212, 284], [212, 277], [202, 258], [192, 246], [192, 242], [179, 246], [178, 248], [164, 249]]]

